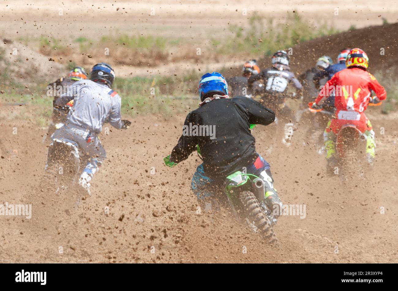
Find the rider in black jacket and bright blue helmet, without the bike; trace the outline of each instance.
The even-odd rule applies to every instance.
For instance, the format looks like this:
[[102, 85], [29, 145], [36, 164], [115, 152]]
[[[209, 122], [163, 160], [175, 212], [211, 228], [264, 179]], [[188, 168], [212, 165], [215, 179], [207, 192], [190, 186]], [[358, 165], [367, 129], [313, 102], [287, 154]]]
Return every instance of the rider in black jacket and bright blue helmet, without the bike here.
[[203, 164], [192, 177], [191, 189], [199, 200], [215, 193], [231, 173], [246, 169], [246, 173], [264, 180], [265, 204], [278, 216], [282, 202], [273, 188], [269, 163], [256, 152], [255, 138], [250, 132], [250, 124], [268, 125], [275, 114], [251, 98], [230, 98], [228, 84], [217, 72], [202, 76], [199, 98], [199, 108], [187, 115], [184, 127], [208, 126], [214, 129], [214, 135], [209, 131], [198, 136], [194, 131], [191, 134], [183, 130], [168, 166], [186, 160], [198, 145]]

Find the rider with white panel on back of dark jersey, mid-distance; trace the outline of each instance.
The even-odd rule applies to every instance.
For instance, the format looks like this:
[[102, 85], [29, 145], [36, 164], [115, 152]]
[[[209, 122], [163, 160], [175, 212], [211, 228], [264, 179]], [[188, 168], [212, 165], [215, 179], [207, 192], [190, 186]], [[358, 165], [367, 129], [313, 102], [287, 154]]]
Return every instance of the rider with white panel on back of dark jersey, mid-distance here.
[[288, 85], [290, 83], [296, 88], [296, 93], [293, 95], [297, 98], [302, 93], [302, 85], [296, 79], [294, 73], [290, 71], [289, 67], [289, 55], [284, 50], [278, 50], [273, 54], [272, 67], [264, 69], [258, 75], [253, 75], [248, 80], [248, 87], [251, 90], [252, 84], [260, 79], [263, 80], [265, 89], [264, 95], [261, 98], [261, 102], [267, 107], [275, 111], [277, 120], [281, 119], [285, 123], [285, 136], [282, 142], [286, 145], [290, 145], [289, 141], [291, 135], [287, 134], [287, 129], [293, 126], [293, 123], [289, 122], [292, 119], [293, 112], [285, 104], [285, 97], [287, 94]]

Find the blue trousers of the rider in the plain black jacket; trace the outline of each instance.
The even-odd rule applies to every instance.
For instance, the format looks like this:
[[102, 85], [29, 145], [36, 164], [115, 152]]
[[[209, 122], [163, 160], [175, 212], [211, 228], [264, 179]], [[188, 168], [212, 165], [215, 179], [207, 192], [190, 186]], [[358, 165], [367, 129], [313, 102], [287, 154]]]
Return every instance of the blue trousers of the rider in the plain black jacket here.
[[[244, 171], [244, 169], [242, 169], [242, 171]], [[246, 173], [253, 174], [256, 176], [259, 176], [260, 173], [263, 171], [266, 171], [267, 176], [272, 179], [269, 163], [266, 160], [264, 160], [260, 155], [258, 155], [258, 158], [254, 161], [253, 164], [249, 165], [246, 168]], [[191, 181], [191, 189], [193, 193], [195, 193], [196, 197], [200, 200], [206, 197], [210, 197], [212, 195], [211, 192], [212, 188], [217, 187], [217, 185], [219, 185], [217, 182], [219, 181], [215, 181], [206, 176], [206, 173], [203, 170], [203, 164], [200, 164], [196, 168], [196, 172], [193, 174]], [[272, 184], [271, 188], [273, 188]]]

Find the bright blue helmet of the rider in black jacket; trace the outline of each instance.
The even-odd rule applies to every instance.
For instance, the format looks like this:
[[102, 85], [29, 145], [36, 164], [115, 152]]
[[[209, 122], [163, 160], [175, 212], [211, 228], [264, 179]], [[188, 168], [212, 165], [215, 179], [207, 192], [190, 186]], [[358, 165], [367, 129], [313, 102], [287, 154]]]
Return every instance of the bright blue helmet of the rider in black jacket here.
[[199, 82], [199, 98], [201, 101], [205, 97], [209, 97], [210, 93], [219, 93], [220, 95], [228, 95], [228, 84], [225, 78], [217, 72], [207, 73], [202, 76]]

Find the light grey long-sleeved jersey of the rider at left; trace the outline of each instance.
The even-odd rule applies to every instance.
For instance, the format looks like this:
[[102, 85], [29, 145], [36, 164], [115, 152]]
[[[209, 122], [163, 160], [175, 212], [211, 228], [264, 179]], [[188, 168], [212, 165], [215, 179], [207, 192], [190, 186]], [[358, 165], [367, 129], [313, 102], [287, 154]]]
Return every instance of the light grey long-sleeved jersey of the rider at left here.
[[[72, 101], [73, 100], [73, 101]], [[95, 83], [91, 80], [81, 80], [62, 94], [56, 101], [57, 105], [72, 103], [65, 125], [74, 125], [89, 129], [93, 133], [100, 133], [105, 121], [120, 129], [121, 98], [107, 85]]]

